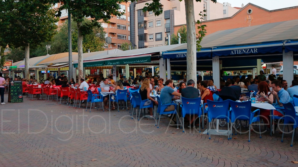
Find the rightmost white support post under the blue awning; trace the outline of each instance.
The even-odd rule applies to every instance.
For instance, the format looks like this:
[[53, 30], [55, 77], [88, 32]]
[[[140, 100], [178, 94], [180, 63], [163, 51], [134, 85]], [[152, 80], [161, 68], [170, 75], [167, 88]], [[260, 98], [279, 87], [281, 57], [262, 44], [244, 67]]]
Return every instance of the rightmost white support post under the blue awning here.
[[288, 83], [292, 83], [294, 79], [293, 66], [293, 51], [285, 53], [285, 50], [283, 50], [283, 80], [286, 80]]

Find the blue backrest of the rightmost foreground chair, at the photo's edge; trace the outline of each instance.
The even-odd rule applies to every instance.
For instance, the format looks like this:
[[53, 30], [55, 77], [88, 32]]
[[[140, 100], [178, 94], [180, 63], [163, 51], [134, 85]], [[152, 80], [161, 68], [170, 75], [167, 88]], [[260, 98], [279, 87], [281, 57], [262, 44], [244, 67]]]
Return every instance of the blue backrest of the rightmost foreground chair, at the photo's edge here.
[[293, 128], [296, 128], [298, 123], [298, 117], [296, 115], [294, 105], [291, 102], [282, 104], [285, 108], [284, 124], [294, 124]]

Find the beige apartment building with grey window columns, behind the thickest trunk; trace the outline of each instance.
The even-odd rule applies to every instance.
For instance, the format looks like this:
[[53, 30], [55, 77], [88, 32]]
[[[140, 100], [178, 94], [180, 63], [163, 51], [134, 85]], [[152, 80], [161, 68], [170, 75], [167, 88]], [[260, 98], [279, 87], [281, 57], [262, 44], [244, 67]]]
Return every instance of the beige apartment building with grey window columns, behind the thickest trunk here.
[[[200, 18], [199, 13], [207, 10], [205, 20], [229, 17], [235, 14], [239, 8], [231, 7], [229, 3], [213, 3], [210, 0], [202, 2], [194, 1], [195, 20]], [[174, 33], [174, 26], [186, 24], [184, 1], [160, 0], [163, 13], [155, 16], [151, 12], [143, 12], [146, 3], [152, 0], [139, 0], [131, 2], [131, 43], [137, 48], [149, 48], [167, 45], [167, 34]]]

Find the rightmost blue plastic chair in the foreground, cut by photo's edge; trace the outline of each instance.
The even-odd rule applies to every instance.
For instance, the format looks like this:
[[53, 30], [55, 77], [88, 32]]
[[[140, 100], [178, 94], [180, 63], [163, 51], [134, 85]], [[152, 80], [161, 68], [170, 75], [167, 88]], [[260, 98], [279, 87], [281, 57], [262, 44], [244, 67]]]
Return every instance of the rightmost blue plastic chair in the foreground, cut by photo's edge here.
[[[295, 111], [295, 108], [291, 102], [289, 103], [282, 103], [284, 108], [285, 108], [285, 115], [284, 115], [284, 122], [283, 122], [283, 134], [285, 131], [285, 125], [293, 125], [293, 134], [292, 134], [292, 142], [291, 142], [291, 147], [293, 146], [293, 139], [294, 139], [294, 134], [297, 128], [297, 122], [298, 122], [298, 115]], [[283, 136], [281, 138], [281, 142], [283, 142]]]

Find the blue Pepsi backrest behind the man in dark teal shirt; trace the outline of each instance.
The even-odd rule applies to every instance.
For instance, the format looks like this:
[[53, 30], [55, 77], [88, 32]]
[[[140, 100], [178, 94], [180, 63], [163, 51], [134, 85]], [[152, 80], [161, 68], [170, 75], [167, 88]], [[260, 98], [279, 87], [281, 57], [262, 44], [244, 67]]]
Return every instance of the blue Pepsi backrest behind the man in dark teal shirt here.
[[[181, 97], [182, 100], [182, 111], [185, 114], [200, 114], [199, 111], [202, 111], [201, 105], [201, 97], [195, 99], [188, 99], [185, 97]], [[185, 114], [183, 114], [185, 116]], [[200, 114], [201, 115], [201, 114]]]

